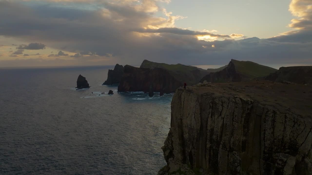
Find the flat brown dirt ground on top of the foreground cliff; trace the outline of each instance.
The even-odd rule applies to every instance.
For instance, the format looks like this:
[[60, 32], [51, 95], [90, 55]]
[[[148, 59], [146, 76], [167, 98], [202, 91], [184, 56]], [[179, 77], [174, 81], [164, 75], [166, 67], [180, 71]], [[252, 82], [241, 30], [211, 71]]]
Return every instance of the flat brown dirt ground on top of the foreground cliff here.
[[312, 86], [283, 84], [271, 81], [209, 83], [208, 86], [188, 86], [186, 91], [198, 95], [238, 96], [259, 102], [261, 105], [284, 108], [303, 116], [312, 116]]

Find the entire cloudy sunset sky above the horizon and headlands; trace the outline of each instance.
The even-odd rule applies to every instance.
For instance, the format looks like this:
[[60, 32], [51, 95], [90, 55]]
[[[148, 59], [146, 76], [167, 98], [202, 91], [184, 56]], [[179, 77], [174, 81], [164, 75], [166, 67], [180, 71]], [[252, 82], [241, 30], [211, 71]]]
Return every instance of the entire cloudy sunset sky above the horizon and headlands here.
[[0, 0], [0, 67], [312, 65], [312, 0]]

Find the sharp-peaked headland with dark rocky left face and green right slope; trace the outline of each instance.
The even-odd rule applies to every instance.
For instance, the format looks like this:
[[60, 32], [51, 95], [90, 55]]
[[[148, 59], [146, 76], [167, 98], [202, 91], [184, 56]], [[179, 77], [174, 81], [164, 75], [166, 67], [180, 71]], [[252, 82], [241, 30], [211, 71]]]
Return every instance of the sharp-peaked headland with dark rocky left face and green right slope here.
[[205, 80], [212, 83], [248, 81], [252, 78], [267, 76], [275, 71], [277, 70], [251, 61], [231, 59], [224, 69], [207, 74], [200, 82]]

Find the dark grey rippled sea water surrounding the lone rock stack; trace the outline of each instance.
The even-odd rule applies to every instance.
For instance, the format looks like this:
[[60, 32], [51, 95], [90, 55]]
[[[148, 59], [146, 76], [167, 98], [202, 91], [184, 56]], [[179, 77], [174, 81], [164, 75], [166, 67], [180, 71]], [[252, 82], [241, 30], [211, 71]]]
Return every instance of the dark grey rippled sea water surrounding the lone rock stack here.
[[117, 93], [108, 69], [0, 69], [0, 174], [157, 174], [172, 94]]

